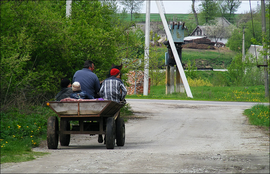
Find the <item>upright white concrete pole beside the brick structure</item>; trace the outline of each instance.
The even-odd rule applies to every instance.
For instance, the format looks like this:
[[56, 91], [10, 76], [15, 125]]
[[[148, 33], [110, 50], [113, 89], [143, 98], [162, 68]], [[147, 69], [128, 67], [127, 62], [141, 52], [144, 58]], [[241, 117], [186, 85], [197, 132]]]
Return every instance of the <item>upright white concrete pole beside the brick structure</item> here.
[[145, 19], [145, 49], [144, 49], [144, 79], [143, 79], [143, 95], [148, 96], [149, 83], [149, 45], [150, 45], [150, 0], [146, 1], [146, 19]]

